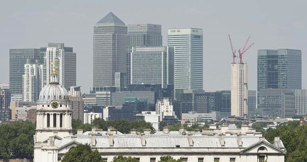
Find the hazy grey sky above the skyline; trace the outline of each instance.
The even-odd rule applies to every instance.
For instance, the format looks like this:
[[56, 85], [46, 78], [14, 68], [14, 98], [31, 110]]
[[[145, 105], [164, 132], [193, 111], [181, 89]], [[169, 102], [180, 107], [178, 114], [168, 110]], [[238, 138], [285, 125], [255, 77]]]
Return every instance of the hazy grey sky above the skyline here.
[[[230, 89], [232, 53], [248, 35], [254, 46], [244, 55], [248, 89], [257, 88], [257, 50], [302, 50], [303, 88], [307, 88], [306, 0], [5, 0], [0, 5], [0, 83], [9, 82], [9, 49], [39, 48], [63, 42], [77, 53], [77, 85], [92, 87], [92, 35], [97, 21], [112, 11], [127, 24], [204, 30], [204, 89]], [[45, 41], [46, 40], [46, 41]]]

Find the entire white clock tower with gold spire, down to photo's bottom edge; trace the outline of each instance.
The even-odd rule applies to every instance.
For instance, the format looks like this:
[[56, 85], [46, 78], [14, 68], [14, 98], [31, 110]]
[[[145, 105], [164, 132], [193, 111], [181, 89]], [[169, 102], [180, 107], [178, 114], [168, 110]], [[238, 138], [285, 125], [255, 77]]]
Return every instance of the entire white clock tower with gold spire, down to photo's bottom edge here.
[[49, 162], [57, 158], [55, 140], [72, 135], [68, 92], [59, 84], [55, 62], [53, 67], [50, 82], [42, 88], [37, 101], [34, 162]]

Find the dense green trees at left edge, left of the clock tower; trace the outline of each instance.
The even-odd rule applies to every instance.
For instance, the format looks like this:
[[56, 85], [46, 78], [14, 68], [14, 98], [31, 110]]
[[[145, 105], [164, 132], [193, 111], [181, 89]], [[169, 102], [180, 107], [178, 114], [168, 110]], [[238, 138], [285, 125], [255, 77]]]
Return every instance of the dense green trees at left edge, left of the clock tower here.
[[0, 159], [32, 158], [34, 134], [31, 122], [0, 125]]

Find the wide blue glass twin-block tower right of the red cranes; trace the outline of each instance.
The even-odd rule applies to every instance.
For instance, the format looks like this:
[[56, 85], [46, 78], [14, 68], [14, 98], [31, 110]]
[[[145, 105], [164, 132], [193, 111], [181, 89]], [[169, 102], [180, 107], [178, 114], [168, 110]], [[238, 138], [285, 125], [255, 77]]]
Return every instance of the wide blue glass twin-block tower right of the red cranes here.
[[258, 50], [257, 83], [260, 89], [302, 89], [302, 51]]

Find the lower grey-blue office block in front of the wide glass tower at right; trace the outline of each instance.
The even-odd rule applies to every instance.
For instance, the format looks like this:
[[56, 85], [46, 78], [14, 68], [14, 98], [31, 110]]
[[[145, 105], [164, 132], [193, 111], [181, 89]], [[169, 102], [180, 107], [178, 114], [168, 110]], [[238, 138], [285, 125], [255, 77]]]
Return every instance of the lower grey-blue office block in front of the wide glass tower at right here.
[[262, 110], [263, 116], [292, 118], [295, 116], [295, 92], [290, 89], [261, 89], [258, 109]]

